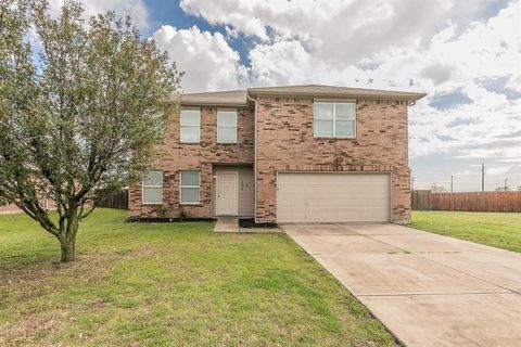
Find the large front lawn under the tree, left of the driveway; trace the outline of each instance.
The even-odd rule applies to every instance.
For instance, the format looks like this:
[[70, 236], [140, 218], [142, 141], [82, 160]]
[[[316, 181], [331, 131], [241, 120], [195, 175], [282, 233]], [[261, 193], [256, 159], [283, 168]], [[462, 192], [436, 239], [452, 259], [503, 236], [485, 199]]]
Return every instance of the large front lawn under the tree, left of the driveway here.
[[23, 215], [0, 216], [0, 346], [395, 346], [284, 234], [127, 223], [99, 210], [78, 260]]

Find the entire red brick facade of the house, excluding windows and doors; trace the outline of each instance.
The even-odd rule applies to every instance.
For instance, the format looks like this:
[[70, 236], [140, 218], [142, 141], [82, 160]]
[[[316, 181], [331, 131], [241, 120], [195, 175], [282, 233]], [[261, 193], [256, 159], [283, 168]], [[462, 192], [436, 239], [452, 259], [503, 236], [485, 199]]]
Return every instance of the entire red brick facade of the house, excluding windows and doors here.
[[[201, 204], [185, 205], [189, 216], [212, 217], [213, 164], [254, 162], [253, 110], [240, 108], [238, 144], [217, 144], [217, 108], [202, 107], [201, 143], [179, 143], [179, 117], [173, 116], [164, 144], [157, 146], [155, 169], [164, 171], [163, 206], [141, 204], [141, 184], [129, 190], [130, 217], [179, 214], [179, 171], [201, 171]], [[392, 219], [410, 218], [407, 104], [357, 102], [356, 139], [316, 139], [313, 99], [259, 98], [257, 111], [258, 221], [276, 220], [277, 171], [386, 171], [392, 176]]]

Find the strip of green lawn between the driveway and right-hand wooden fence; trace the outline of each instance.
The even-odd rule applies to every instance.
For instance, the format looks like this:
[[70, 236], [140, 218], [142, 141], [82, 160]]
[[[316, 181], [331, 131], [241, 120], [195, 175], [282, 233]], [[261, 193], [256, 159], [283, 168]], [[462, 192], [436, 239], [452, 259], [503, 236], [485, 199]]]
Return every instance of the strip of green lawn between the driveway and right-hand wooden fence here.
[[521, 214], [415, 210], [410, 227], [521, 253]]

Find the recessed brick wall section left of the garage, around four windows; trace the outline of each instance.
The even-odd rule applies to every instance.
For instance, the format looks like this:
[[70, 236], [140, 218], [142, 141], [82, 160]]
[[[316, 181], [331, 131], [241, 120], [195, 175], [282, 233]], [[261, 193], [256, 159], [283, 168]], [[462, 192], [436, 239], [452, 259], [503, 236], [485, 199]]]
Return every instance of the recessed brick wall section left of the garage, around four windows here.
[[201, 108], [201, 142], [179, 142], [179, 115], [175, 113], [157, 146], [153, 168], [163, 170], [163, 206], [141, 204], [141, 184], [129, 189], [129, 217], [178, 217], [179, 171], [201, 171], [201, 204], [182, 205], [188, 216], [212, 217], [212, 164], [253, 164], [253, 108], [238, 110], [238, 143], [217, 144], [217, 107]]

